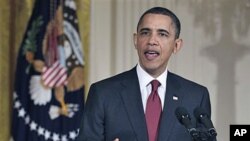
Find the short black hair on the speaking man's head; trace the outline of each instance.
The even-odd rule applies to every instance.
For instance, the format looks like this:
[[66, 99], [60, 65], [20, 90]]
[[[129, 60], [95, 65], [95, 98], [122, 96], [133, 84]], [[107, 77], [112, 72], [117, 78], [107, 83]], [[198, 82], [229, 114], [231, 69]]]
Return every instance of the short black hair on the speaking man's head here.
[[169, 16], [172, 19], [174, 26], [175, 26], [175, 38], [176, 39], [179, 38], [180, 32], [181, 32], [180, 20], [172, 11], [170, 11], [169, 9], [164, 8], [164, 7], [153, 7], [151, 9], [148, 9], [146, 12], [144, 12], [142, 14], [142, 16], [140, 17], [139, 22], [137, 24], [137, 32], [139, 30], [139, 26], [140, 26], [144, 16], [147, 14], [161, 14], [161, 15]]

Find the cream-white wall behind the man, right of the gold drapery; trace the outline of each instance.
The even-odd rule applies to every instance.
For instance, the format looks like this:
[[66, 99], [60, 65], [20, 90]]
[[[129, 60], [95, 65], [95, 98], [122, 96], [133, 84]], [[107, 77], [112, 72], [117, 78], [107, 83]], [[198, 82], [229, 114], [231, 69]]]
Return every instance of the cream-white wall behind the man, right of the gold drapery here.
[[249, 0], [92, 0], [90, 83], [135, 66], [132, 35], [152, 6], [180, 18], [184, 48], [169, 68], [208, 87], [218, 140], [229, 140], [230, 124], [250, 124]]

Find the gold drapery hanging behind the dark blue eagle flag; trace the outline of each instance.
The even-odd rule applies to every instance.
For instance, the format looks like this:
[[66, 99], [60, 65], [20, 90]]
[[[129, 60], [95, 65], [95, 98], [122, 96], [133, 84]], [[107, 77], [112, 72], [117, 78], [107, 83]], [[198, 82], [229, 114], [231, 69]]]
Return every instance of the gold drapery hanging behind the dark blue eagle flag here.
[[[76, 0], [80, 34], [86, 62], [89, 46], [90, 0]], [[17, 53], [32, 12], [34, 0], [0, 1], [0, 141], [10, 138], [12, 95]], [[88, 74], [88, 63], [85, 76]], [[85, 80], [87, 77], [85, 77]], [[87, 81], [86, 81], [87, 82]], [[87, 84], [88, 85], [88, 84]]]

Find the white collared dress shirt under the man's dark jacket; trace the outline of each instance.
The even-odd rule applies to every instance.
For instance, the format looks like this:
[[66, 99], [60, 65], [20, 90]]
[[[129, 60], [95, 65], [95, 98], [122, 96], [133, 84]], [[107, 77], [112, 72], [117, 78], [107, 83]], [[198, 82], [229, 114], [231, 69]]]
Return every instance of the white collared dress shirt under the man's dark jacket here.
[[164, 99], [165, 99], [165, 94], [166, 94], [166, 82], [167, 82], [166, 80], [167, 80], [167, 74], [168, 74], [167, 68], [159, 77], [153, 78], [144, 69], [142, 69], [142, 67], [138, 63], [138, 65], [136, 66], [136, 72], [137, 72], [139, 84], [140, 84], [140, 91], [141, 91], [144, 113], [146, 111], [147, 99], [152, 91], [151, 90], [152, 86], [151, 86], [150, 82], [152, 80], [155, 80], [155, 79], [161, 83], [161, 85], [158, 87], [158, 94], [159, 94], [159, 97], [161, 99], [161, 106], [163, 109]]

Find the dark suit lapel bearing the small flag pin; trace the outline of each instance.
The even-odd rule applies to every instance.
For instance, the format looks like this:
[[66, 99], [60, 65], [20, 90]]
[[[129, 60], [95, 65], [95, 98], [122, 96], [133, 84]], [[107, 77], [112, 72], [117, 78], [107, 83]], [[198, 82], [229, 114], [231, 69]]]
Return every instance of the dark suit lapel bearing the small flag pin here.
[[181, 103], [180, 96], [180, 85], [177, 80], [174, 79], [173, 74], [168, 72], [166, 96], [160, 121], [158, 141], [167, 141], [171, 135], [172, 128], [177, 121], [175, 109]]

